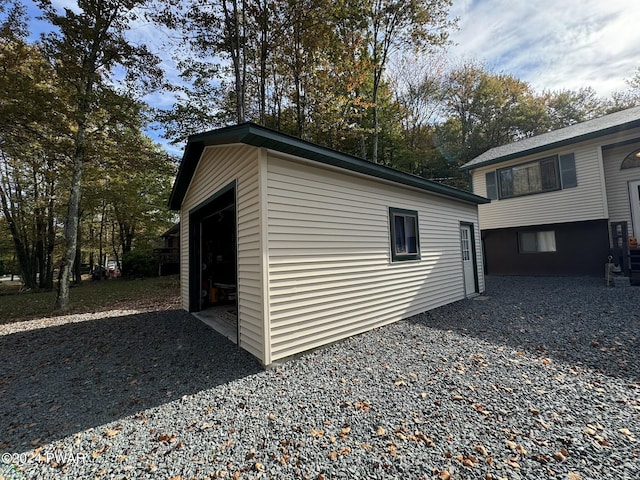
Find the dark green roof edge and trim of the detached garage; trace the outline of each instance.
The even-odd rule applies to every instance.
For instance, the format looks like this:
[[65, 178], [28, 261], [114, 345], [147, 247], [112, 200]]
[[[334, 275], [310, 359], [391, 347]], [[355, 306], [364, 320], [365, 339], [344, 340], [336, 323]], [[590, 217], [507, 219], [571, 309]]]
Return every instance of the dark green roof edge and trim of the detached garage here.
[[173, 210], [180, 208], [205, 147], [233, 143], [268, 148], [476, 205], [490, 201], [465, 190], [426, 180], [384, 165], [378, 165], [248, 122], [189, 137], [180, 168], [178, 169], [178, 175], [169, 197], [169, 208]]

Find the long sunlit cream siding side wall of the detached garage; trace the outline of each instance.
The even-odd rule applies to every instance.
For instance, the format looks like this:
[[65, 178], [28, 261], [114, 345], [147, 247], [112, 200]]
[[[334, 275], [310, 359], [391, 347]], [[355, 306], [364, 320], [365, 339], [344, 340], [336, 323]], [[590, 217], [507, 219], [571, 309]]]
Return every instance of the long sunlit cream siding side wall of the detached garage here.
[[[271, 360], [465, 298], [460, 222], [475, 205], [270, 154]], [[419, 261], [391, 262], [389, 207], [419, 216]]]

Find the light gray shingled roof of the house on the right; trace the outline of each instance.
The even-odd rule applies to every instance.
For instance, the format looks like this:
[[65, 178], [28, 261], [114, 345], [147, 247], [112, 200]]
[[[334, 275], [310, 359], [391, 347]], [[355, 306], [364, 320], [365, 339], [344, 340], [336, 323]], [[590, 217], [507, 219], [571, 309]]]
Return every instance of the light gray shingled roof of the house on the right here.
[[542, 153], [554, 148], [571, 145], [573, 143], [593, 138], [623, 132], [640, 127], [640, 107], [629, 108], [611, 113], [603, 117], [594, 118], [582, 123], [560, 128], [552, 132], [524, 138], [514, 143], [487, 150], [461, 168], [471, 170], [484, 165], [513, 160], [514, 158]]

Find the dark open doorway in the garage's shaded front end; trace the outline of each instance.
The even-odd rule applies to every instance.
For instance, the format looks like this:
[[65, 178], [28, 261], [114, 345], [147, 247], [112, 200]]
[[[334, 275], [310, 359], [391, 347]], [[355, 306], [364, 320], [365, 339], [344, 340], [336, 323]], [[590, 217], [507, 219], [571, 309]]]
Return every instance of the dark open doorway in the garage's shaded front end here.
[[189, 310], [237, 343], [235, 182], [194, 209], [189, 218]]

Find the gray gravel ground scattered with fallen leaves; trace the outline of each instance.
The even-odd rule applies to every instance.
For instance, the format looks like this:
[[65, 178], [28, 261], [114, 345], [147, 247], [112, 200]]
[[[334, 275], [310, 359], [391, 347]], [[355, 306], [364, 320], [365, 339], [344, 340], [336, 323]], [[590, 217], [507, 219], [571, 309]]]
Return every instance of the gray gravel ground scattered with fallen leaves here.
[[640, 478], [640, 288], [600, 279], [492, 277], [267, 371], [180, 311], [0, 347], [0, 476]]

